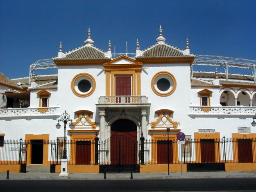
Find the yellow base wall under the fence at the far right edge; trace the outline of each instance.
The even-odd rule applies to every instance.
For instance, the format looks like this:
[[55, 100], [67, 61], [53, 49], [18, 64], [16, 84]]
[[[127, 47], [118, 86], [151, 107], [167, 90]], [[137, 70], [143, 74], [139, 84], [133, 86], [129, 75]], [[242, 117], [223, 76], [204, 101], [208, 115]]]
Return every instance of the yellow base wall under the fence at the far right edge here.
[[226, 172], [256, 171], [256, 163], [225, 163]]

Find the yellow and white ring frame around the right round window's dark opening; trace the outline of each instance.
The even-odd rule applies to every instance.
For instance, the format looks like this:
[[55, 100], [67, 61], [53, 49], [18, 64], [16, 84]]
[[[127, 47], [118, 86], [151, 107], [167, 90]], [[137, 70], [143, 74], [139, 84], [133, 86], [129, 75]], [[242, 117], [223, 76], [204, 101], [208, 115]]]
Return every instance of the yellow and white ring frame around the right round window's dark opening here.
[[[172, 82], [170, 82], [170, 84], [173, 84], [173, 85], [172, 85], [172, 88], [170, 88], [170, 90], [161, 91], [157, 88], [157, 86], [155, 86], [157, 84], [157, 81], [159, 81], [159, 79], [162, 79], [162, 78], [165, 78], [169, 81], [172, 80]], [[161, 97], [167, 97], [169, 95], [172, 95], [172, 93], [176, 90], [176, 86], [177, 86], [177, 81], [176, 81], [174, 75], [172, 75], [170, 72], [167, 72], [167, 71], [160, 71], [160, 72], [156, 73], [151, 80], [151, 88], [152, 88], [153, 92], [156, 95], [159, 95]]]

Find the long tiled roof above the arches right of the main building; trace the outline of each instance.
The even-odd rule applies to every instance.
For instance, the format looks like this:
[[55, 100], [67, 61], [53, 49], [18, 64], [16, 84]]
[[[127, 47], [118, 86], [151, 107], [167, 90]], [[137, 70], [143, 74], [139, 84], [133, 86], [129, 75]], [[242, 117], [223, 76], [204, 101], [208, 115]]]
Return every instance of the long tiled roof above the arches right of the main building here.
[[[215, 78], [215, 72], [193, 72], [193, 77], [196, 78]], [[218, 77], [220, 79], [226, 79], [225, 73], [219, 73]], [[239, 79], [239, 80], [247, 80], [247, 81], [254, 81], [254, 77], [250, 75], [236, 75], [236, 74], [229, 74], [229, 79]]]

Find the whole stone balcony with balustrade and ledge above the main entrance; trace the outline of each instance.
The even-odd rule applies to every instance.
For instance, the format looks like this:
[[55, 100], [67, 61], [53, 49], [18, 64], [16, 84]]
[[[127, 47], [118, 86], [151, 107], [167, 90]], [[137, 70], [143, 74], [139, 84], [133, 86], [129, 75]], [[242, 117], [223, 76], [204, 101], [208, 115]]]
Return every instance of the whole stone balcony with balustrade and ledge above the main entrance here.
[[100, 96], [98, 107], [125, 107], [125, 106], [145, 106], [149, 107], [148, 97], [145, 95], [125, 95], [125, 96]]

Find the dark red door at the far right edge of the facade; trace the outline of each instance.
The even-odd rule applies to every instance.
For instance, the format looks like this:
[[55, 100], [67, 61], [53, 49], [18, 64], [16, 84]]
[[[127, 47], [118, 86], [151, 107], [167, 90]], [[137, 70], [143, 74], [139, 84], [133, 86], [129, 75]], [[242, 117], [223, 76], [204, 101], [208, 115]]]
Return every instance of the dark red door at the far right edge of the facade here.
[[238, 163], [252, 163], [251, 139], [238, 139]]

